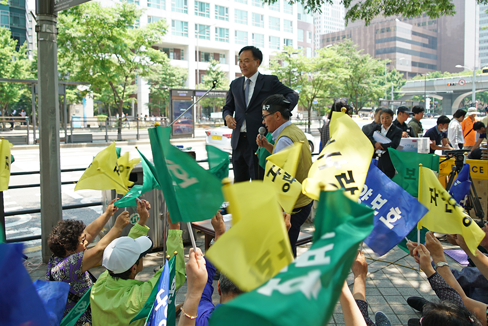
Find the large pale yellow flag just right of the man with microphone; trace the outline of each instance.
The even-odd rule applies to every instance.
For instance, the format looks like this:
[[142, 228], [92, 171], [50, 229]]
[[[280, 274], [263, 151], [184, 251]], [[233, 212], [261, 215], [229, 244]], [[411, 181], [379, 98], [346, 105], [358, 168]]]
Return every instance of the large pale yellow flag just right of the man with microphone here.
[[344, 112], [333, 112], [330, 120], [330, 140], [320, 152], [302, 183], [302, 191], [319, 200], [320, 183], [325, 190], [345, 189], [351, 200], [357, 201], [374, 148], [361, 128]]

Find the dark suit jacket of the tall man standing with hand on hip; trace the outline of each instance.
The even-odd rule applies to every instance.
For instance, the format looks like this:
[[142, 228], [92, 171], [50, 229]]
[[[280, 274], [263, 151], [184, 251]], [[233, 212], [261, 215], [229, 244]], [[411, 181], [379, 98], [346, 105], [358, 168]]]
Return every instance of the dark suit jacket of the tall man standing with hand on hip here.
[[[247, 108], [244, 103], [244, 76], [239, 77], [230, 83], [222, 114], [224, 118], [227, 114], [230, 114], [237, 122], [237, 128], [232, 130], [232, 138], [230, 142], [233, 150], [237, 148], [237, 143], [239, 142], [239, 136], [241, 134], [241, 125], [243, 124], [244, 119], [249, 145], [254, 152], [258, 149], [256, 136], [258, 136], [259, 127], [263, 126], [263, 107], [261, 104], [268, 96], [274, 94], [284, 95], [286, 100], [291, 102], [291, 108], [294, 108], [298, 103], [298, 94], [282, 84], [278, 80], [278, 77], [273, 75], [258, 74], [256, 84], [254, 85], [254, 92], [252, 93], [252, 98], [249, 101]], [[225, 123], [225, 125], [227, 125], [227, 123]]]

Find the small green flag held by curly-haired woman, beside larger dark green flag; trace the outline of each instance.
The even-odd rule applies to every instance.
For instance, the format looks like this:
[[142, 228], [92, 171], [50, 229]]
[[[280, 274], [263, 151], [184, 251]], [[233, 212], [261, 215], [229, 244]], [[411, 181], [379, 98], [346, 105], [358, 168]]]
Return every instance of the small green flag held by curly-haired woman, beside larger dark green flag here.
[[141, 153], [138, 148], [136, 149], [141, 156], [142, 185], [134, 184], [134, 186], [132, 186], [132, 188], [121, 199], [115, 202], [115, 205], [117, 207], [137, 206], [136, 197], [139, 197], [143, 193], [151, 191], [153, 189], [161, 189], [161, 186], [156, 181], [156, 169], [154, 168], [154, 165], [146, 159], [146, 157]]

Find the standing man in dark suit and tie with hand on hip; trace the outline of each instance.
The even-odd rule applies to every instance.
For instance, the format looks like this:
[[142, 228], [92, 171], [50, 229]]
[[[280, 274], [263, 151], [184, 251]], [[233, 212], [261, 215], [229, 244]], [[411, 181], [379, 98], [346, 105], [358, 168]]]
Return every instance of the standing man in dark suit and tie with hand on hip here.
[[[282, 84], [278, 77], [262, 75], [258, 67], [263, 53], [254, 46], [244, 46], [239, 52], [242, 77], [230, 83], [222, 110], [225, 125], [232, 130], [232, 166], [234, 182], [258, 179], [258, 149], [256, 137], [263, 126], [262, 103], [270, 95], [282, 94], [294, 108], [298, 94]], [[262, 179], [262, 178], [261, 178]]]

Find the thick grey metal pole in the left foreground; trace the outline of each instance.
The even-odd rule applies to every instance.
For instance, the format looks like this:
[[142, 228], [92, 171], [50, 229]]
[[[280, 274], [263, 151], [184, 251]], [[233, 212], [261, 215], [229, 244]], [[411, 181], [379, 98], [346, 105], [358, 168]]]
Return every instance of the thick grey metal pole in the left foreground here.
[[39, 82], [39, 151], [41, 170], [41, 244], [42, 261], [47, 263], [51, 250], [47, 238], [62, 219], [60, 109], [58, 87], [57, 15], [54, 1], [36, 0]]

